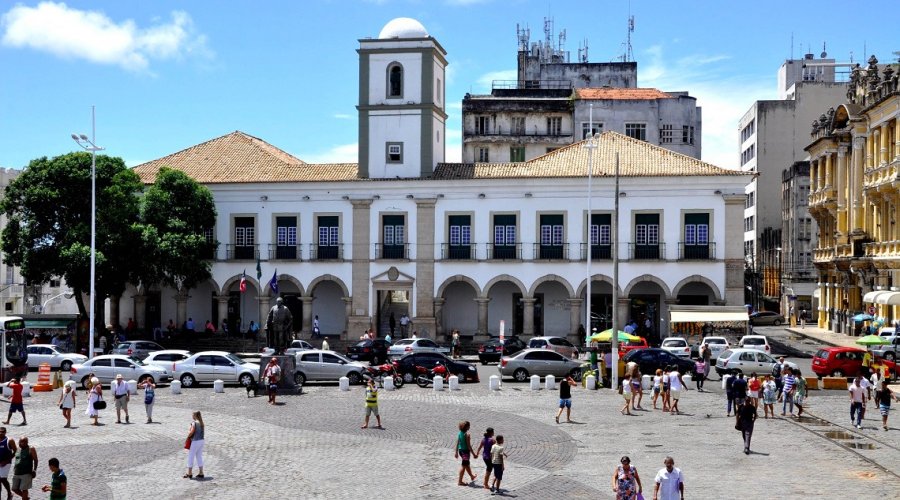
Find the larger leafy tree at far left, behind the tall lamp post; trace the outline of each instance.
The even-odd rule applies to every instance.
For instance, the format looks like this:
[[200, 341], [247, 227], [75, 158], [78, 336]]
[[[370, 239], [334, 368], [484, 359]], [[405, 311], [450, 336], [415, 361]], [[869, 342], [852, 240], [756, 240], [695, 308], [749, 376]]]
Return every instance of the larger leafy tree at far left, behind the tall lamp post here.
[[[119, 295], [139, 276], [144, 246], [138, 176], [121, 158], [96, 158], [96, 293]], [[87, 315], [82, 294], [90, 292], [91, 155], [69, 153], [32, 160], [6, 188], [0, 212], [7, 225], [0, 249], [6, 263], [21, 266], [29, 283], [62, 276]]]

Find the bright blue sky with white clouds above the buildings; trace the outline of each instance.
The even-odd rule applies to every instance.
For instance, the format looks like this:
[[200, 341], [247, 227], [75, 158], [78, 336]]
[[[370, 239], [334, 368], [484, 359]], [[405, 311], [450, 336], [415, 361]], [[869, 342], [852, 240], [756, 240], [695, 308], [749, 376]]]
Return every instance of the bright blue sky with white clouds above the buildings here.
[[[703, 159], [734, 168], [737, 120], [776, 96], [784, 59], [822, 43], [838, 61], [863, 49], [896, 60], [893, 0], [634, 0], [638, 85], [687, 90], [703, 107]], [[71, 1], [0, 6], [0, 166], [22, 168], [90, 133], [130, 166], [233, 130], [308, 162], [356, 161], [358, 39], [418, 19], [447, 50], [448, 159], [460, 157], [460, 102], [515, 79], [516, 24], [543, 36], [552, 16], [577, 58], [624, 51], [629, 3], [574, 0]], [[864, 31], [871, 28], [871, 31]], [[865, 57], [868, 57], [866, 55]]]

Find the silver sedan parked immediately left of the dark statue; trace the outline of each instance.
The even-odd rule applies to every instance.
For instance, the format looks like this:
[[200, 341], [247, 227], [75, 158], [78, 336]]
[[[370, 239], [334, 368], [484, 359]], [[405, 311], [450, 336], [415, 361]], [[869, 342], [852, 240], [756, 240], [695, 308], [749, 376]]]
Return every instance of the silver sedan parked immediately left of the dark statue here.
[[224, 351], [201, 351], [184, 361], [172, 365], [175, 378], [182, 387], [193, 387], [221, 379], [227, 383], [243, 386], [253, 385], [259, 380], [259, 365], [250, 363]]

